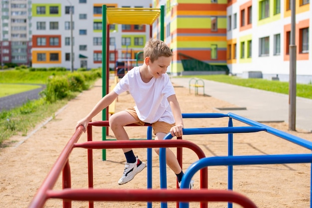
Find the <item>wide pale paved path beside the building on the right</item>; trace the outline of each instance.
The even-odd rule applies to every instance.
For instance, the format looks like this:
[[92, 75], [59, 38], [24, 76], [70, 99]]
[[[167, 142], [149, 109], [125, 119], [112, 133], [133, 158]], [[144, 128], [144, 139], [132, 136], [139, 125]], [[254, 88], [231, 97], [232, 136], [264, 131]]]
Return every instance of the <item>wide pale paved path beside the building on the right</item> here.
[[[177, 85], [188, 88], [190, 78], [171, 78]], [[264, 90], [241, 87], [221, 82], [204, 80], [205, 94], [234, 104], [246, 110], [225, 109], [222, 113], [234, 114], [258, 122], [289, 123], [289, 96]], [[194, 88], [191, 88], [194, 90]], [[198, 88], [202, 94], [202, 88]], [[297, 97], [296, 128], [312, 132], [312, 99]]]

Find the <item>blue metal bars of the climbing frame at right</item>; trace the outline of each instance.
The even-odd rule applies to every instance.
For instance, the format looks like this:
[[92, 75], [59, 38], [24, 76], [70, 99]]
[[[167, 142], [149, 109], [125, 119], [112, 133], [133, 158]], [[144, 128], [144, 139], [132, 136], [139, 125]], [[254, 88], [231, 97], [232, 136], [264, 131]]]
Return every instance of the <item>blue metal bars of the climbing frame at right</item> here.
[[[183, 118], [222, 118], [222, 117], [229, 117], [228, 127], [219, 127], [219, 128], [197, 128], [197, 129], [183, 129], [183, 135], [193, 135], [193, 134], [228, 134], [228, 157], [216, 157], [216, 158], [205, 158], [200, 159], [203, 161], [209, 161], [206, 162], [206, 167], [211, 165], [211, 161], [217, 160], [220, 161], [219, 165], [228, 165], [228, 190], [233, 190], [233, 165], [239, 165], [239, 163], [244, 163], [243, 161], [246, 160], [245, 163], [248, 162], [248, 157], [250, 157], [251, 164], [283, 164], [283, 163], [312, 163], [312, 154], [304, 154], [304, 155], [275, 155], [275, 156], [259, 156], [261, 160], [257, 160], [258, 158], [253, 158], [253, 156], [244, 156], [239, 157], [235, 156], [236, 160], [242, 160], [239, 162], [232, 162], [231, 160], [234, 160], [233, 158], [233, 133], [248, 133], [248, 132], [258, 132], [258, 131], [265, 131], [268, 132], [274, 136], [280, 137], [284, 140], [287, 140], [289, 142], [292, 142], [294, 144], [297, 144], [301, 147], [307, 148], [309, 150], [312, 150], [312, 142], [308, 140], [304, 140], [300, 137], [288, 134], [286, 132], [277, 130], [275, 128], [269, 127], [267, 125], [261, 124], [259, 122], [244, 118], [242, 116], [236, 115], [234, 113], [228, 113], [228, 114], [221, 114], [221, 113], [194, 113], [194, 114], [182, 114]], [[250, 127], [233, 127], [233, 119], [243, 122], [245, 124], [250, 125]], [[171, 139], [172, 136], [170, 133], [168, 133], [164, 140]], [[166, 161], [165, 161], [165, 148], [160, 148], [159, 151], [159, 161], [160, 161], [160, 174], [166, 175], [165, 167], [166, 167]], [[245, 157], [247, 159], [245, 159]], [[200, 161], [199, 160], [199, 161]], [[226, 161], [226, 162], [224, 162]], [[263, 161], [263, 163], [261, 163]], [[223, 163], [222, 163], [223, 162]], [[255, 163], [258, 162], [258, 163]], [[198, 161], [196, 162], [198, 163]], [[247, 164], [241, 164], [241, 165], [247, 165]], [[190, 166], [187, 171], [185, 172], [185, 176], [183, 177], [183, 180], [187, 180], [182, 183], [181, 182], [181, 188], [187, 188], [189, 186], [190, 180], [193, 176], [193, 174], [189, 173], [191, 172], [192, 167]], [[161, 181], [163, 180], [163, 181]], [[162, 177], [160, 179], [160, 188], [165, 189], [166, 188], [166, 177]], [[183, 186], [182, 186], [183, 185]], [[311, 185], [310, 185], [310, 208], [312, 208], [312, 168], [311, 168]], [[187, 204], [182, 204], [183, 208], [187, 208]], [[162, 208], [166, 208], [166, 204], [161, 204]], [[232, 208], [232, 204], [228, 204], [228, 208]]]

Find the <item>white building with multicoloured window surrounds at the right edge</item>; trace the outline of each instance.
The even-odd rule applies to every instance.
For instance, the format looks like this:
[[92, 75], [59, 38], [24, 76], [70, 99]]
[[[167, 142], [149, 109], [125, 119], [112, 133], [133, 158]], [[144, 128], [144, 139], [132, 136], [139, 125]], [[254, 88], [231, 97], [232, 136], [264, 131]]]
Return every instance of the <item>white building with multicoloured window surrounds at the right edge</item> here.
[[[295, 24], [297, 82], [311, 83], [312, 8], [309, 0], [296, 0]], [[265, 79], [278, 77], [289, 81], [290, 33], [291, 0], [229, 0], [227, 65], [230, 73], [248, 77], [260, 72]]]

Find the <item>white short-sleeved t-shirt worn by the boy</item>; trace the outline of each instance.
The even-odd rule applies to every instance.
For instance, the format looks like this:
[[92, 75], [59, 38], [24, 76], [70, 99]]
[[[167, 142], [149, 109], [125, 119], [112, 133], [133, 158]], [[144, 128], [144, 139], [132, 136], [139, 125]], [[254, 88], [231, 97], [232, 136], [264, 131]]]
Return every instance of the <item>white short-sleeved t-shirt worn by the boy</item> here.
[[173, 114], [167, 98], [174, 95], [174, 89], [168, 74], [164, 73], [159, 78], [153, 77], [145, 83], [141, 79], [140, 66], [130, 70], [116, 85], [114, 91], [120, 95], [129, 91], [135, 100], [136, 112], [141, 121], [155, 123], [163, 121], [174, 123]]

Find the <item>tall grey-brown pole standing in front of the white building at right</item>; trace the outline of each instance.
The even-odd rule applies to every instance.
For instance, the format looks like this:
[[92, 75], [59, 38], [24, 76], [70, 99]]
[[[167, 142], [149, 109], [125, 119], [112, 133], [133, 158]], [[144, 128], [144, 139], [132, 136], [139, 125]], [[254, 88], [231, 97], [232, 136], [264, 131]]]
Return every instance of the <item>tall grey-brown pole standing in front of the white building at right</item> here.
[[296, 131], [296, 0], [291, 0], [291, 37], [289, 45], [289, 127], [288, 130]]

